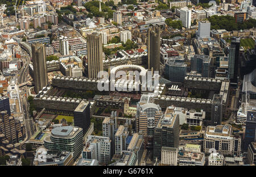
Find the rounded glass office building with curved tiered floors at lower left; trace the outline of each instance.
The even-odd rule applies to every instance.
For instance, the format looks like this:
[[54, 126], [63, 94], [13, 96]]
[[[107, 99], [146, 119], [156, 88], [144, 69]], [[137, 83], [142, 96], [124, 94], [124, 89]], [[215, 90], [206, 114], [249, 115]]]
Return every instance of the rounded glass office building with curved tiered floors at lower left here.
[[64, 126], [52, 129], [51, 135], [44, 138], [44, 147], [51, 151], [69, 151], [76, 160], [82, 152], [82, 128]]

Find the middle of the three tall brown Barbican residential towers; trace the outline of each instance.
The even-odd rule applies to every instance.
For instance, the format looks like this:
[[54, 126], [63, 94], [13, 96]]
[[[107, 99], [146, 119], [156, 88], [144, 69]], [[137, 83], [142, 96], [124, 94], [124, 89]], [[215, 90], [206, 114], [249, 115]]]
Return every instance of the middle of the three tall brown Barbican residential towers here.
[[98, 72], [103, 70], [101, 34], [93, 32], [87, 35], [87, 59], [89, 78], [97, 78]]

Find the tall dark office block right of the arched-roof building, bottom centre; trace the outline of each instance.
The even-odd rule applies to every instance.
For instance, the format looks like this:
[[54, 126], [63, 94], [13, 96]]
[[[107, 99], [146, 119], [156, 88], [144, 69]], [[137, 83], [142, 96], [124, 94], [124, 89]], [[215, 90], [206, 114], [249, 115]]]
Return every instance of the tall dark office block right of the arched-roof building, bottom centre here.
[[162, 147], [179, 147], [179, 115], [172, 114], [167, 108], [154, 133], [154, 158], [161, 159]]

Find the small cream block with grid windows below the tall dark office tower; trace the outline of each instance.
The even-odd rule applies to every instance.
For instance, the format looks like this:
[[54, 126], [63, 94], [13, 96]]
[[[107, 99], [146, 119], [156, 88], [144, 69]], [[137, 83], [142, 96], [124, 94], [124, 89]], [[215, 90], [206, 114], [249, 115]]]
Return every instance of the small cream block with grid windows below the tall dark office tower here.
[[177, 166], [177, 148], [176, 147], [162, 147], [161, 153], [162, 165]]

